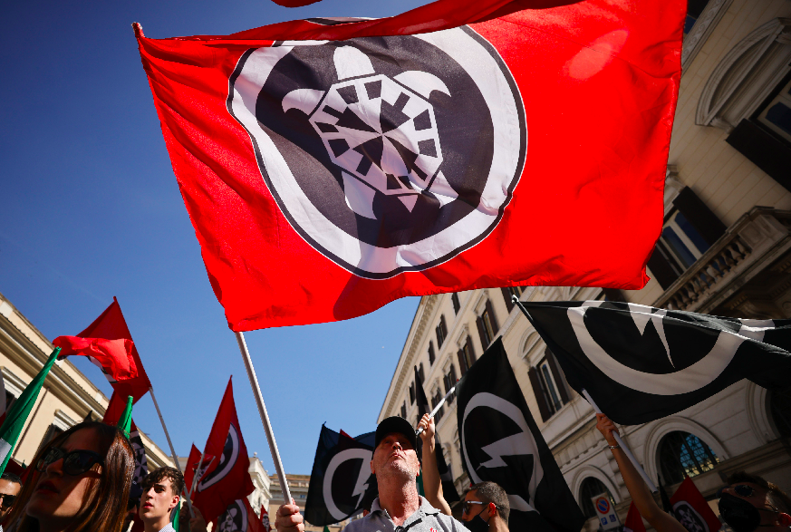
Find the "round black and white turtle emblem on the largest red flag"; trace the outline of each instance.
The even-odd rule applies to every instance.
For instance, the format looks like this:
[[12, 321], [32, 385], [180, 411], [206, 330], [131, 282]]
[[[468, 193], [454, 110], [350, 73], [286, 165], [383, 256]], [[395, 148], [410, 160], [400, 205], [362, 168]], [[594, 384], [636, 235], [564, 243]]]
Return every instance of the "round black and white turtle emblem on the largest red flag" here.
[[525, 161], [516, 82], [467, 27], [249, 50], [227, 107], [292, 227], [368, 278], [487, 237]]

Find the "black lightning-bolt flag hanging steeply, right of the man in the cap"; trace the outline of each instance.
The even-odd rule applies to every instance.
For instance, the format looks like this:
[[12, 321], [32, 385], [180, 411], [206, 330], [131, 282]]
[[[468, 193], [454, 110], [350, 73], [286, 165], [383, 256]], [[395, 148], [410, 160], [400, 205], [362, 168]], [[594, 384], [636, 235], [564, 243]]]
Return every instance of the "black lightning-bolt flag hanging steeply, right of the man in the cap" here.
[[474, 483], [508, 494], [512, 530], [579, 532], [585, 522], [530, 414], [497, 338], [458, 383], [462, 464]]

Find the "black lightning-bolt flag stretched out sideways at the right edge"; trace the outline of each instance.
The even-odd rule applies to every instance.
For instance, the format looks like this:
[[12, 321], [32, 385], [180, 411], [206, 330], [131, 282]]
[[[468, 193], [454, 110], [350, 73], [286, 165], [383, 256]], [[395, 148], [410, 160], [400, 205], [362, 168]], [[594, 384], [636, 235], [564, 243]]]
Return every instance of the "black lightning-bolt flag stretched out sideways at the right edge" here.
[[658, 420], [741, 379], [772, 389], [791, 378], [791, 320], [604, 301], [525, 307], [571, 387], [617, 423]]

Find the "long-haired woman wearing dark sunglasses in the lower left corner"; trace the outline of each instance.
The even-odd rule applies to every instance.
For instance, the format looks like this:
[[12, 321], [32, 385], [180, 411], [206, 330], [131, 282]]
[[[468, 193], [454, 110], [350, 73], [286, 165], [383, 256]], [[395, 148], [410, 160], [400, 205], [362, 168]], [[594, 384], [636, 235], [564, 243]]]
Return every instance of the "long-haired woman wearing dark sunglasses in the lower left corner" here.
[[6, 530], [120, 532], [135, 469], [121, 430], [82, 422], [45, 445], [31, 466]]

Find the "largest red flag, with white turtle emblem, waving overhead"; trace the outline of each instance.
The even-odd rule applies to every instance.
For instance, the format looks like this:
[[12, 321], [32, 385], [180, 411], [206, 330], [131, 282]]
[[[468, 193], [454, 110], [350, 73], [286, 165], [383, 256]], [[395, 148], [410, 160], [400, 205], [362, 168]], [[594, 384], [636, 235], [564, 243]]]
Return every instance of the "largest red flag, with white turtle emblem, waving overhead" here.
[[567, 3], [440, 0], [174, 39], [138, 27], [230, 327], [491, 286], [645, 285], [685, 3]]

